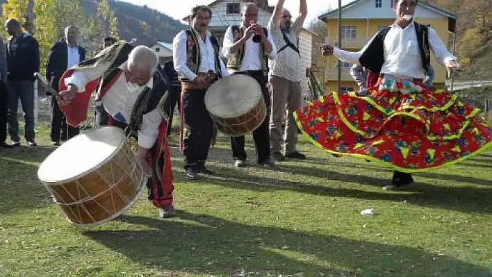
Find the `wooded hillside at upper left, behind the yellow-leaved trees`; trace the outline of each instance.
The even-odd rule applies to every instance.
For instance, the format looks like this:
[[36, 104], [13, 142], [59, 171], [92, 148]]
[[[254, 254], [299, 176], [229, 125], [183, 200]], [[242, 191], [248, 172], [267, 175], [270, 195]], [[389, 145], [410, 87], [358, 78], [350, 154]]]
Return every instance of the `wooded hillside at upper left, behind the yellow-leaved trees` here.
[[[0, 0], [0, 5], [5, 2], [6, 0]], [[99, 1], [81, 0], [81, 3], [88, 15], [95, 15]], [[138, 44], [145, 45], [154, 44], [156, 41], [172, 42], [174, 35], [187, 27], [147, 6], [136, 6], [122, 1], [111, 1], [110, 5], [118, 19], [120, 36], [127, 41], [136, 38]]]

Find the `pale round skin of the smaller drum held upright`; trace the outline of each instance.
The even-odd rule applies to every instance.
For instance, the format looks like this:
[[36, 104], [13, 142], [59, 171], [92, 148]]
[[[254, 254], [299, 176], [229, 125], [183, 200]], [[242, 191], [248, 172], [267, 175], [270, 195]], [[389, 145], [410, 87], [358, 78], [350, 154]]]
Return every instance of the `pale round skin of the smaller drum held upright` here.
[[252, 77], [236, 74], [213, 83], [205, 94], [205, 106], [212, 115], [233, 118], [245, 115], [263, 97], [260, 84]]

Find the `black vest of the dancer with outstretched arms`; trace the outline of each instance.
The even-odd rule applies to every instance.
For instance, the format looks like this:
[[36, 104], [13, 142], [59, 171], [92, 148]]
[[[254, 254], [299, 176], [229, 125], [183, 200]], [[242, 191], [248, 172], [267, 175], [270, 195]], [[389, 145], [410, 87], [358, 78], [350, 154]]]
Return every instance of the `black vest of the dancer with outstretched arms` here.
[[[429, 28], [423, 24], [415, 24], [415, 31], [417, 35], [418, 49], [420, 50], [420, 59], [422, 60], [423, 68], [427, 74], [429, 72], [430, 65], [430, 51], [429, 51]], [[363, 67], [366, 67], [371, 72], [379, 74], [381, 68], [384, 65], [384, 38], [388, 34], [391, 27], [387, 27], [379, 31], [374, 37], [374, 40], [368, 45], [366, 51], [362, 53], [359, 62]]]

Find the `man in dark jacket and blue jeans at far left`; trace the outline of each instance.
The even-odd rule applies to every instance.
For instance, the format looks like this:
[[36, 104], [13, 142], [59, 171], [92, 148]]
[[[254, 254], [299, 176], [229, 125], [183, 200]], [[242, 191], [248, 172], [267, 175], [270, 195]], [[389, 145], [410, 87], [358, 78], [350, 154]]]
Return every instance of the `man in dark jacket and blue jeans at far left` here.
[[19, 122], [17, 121], [17, 103], [20, 99], [24, 110], [25, 133], [28, 146], [36, 146], [34, 140], [34, 74], [40, 69], [40, 51], [38, 41], [32, 35], [24, 33], [15, 19], [6, 21], [10, 37], [7, 40], [8, 65], [8, 102], [10, 115], [8, 133], [20, 146]]

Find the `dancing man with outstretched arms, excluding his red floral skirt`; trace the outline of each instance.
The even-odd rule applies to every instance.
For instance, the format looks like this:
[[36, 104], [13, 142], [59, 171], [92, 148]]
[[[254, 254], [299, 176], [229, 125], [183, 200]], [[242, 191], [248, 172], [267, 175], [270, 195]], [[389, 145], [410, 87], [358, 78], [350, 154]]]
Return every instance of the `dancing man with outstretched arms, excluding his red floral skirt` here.
[[[420, 80], [429, 72], [430, 51], [448, 70], [461, 69], [457, 58], [446, 48], [434, 29], [413, 21], [418, 0], [393, 0], [396, 21], [379, 31], [359, 52], [349, 52], [323, 45], [323, 55], [334, 55], [344, 62], [362, 65], [382, 76], [398, 76]], [[410, 173], [394, 171], [385, 190], [396, 190], [413, 183]]]

